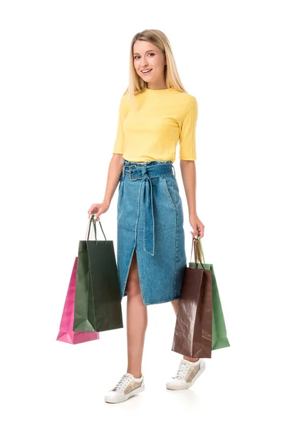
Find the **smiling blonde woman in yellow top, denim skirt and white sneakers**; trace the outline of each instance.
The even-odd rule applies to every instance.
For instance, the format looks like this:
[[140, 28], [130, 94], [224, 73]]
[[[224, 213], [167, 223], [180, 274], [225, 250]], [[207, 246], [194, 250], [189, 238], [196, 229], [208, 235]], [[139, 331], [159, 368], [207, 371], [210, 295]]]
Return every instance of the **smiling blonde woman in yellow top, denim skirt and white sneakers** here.
[[[204, 236], [195, 200], [196, 123], [197, 100], [180, 82], [167, 37], [158, 30], [137, 33], [105, 197], [88, 210], [99, 221], [119, 183], [117, 264], [121, 297], [128, 295], [128, 368], [106, 402], [122, 402], [145, 389], [147, 305], [171, 301], [177, 315], [186, 266], [182, 200], [172, 165], [178, 140], [192, 238]], [[167, 389], [189, 388], [204, 368], [204, 360], [184, 356]]]

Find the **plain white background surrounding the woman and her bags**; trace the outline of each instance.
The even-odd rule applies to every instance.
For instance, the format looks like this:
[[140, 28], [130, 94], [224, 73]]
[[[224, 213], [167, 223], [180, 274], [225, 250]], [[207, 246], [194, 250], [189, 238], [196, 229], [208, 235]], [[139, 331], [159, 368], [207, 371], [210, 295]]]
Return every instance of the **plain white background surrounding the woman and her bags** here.
[[[3, 426], [284, 425], [281, 6], [1, 1]], [[180, 362], [171, 351], [175, 312], [170, 302], [152, 305], [145, 391], [111, 405], [105, 392], [127, 369], [126, 328], [74, 346], [56, 336], [87, 211], [105, 193], [130, 41], [145, 28], [170, 39], [198, 101], [197, 214], [231, 347], [212, 352], [192, 389], [167, 390]], [[178, 156], [175, 170], [189, 262]], [[101, 216], [115, 248], [117, 194]], [[122, 308], [125, 324], [126, 298]]]

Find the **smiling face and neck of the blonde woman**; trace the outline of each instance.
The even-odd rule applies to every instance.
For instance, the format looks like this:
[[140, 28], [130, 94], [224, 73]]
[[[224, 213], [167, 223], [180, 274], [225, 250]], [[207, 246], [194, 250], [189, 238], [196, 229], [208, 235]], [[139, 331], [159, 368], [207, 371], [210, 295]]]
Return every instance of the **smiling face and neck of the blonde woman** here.
[[138, 75], [147, 83], [147, 88], [165, 88], [165, 62], [165, 56], [155, 45], [149, 41], [135, 41], [133, 64]]

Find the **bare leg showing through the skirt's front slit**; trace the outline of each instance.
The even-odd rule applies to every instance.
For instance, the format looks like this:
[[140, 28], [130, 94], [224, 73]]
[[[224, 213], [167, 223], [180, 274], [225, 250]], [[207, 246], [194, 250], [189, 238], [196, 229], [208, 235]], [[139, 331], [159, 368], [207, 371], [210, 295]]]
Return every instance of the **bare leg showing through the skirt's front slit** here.
[[147, 307], [142, 302], [140, 280], [138, 277], [137, 256], [134, 251], [130, 264], [127, 285], [127, 339], [128, 369], [135, 378], [142, 375], [142, 352], [147, 329]]

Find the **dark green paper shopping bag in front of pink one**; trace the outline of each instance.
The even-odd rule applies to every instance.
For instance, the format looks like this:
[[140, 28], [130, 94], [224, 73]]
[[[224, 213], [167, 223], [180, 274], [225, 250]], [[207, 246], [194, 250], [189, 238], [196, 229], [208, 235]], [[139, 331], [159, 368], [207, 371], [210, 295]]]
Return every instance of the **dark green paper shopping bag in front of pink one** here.
[[[95, 241], [88, 240], [91, 223]], [[101, 223], [100, 227], [103, 232]], [[104, 232], [103, 235], [105, 237]], [[97, 240], [92, 215], [87, 240], [80, 241], [78, 247], [73, 331], [102, 332], [121, 327], [123, 317], [113, 241]]]

